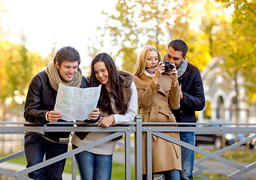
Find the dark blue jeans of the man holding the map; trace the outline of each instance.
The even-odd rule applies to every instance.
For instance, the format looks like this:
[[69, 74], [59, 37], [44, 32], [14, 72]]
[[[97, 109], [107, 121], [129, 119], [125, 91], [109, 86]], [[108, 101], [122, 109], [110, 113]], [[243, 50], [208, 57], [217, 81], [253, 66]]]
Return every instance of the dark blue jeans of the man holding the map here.
[[[26, 155], [27, 166], [33, 166], [41, 163], [45, 159], [48, 160], [68, 151], [68, 144], [51, 142], [36, 133], [28, 133], [25, 135], [24, 150]], [[66, 159], [59, 160], [49, 166], [35, 170], [29, 173], [29, 178], [36, 180], [61, 180], [62, 172]]]

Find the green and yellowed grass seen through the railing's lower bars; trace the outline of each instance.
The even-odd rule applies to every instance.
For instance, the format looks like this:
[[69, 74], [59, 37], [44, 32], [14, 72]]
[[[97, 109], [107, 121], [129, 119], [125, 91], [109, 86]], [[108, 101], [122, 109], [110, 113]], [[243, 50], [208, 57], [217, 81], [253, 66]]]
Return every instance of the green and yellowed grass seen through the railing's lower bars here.
[[[122, 151], [122, 149], [120, 149]], [[210, 152], [215, 152], [215, 150], [209, 150]], [[5, 157], [6, 155], [0, 155], [0, 157]], [[239, 150], [237, 151], [237, 154], [235, 154], [235, 151], [227, 151], [224, 154], [221, 154], [222, 157], [227, 158], [228, 160], [236, 161], [236, 162], [251, 162], [256, 160], [256, 151], [244, 151], [244, 150]], [[203, 154], [195, 153], [195, 159], [200, 159], [202, 157], [205, 157]], [[8, 162], [11, 163], [19, 163], [26, 165], [26, 158], [25, 156], [20, 156], [16, 157], [15, 159], [8, 160]], [[111, 180], [122, 180], [125, 179], [125, 166], [122, 163], [115, 163], [113, 162], [113, 169], [112, 169], [112, 177]], [[72, 173], [72, 160], [71, 158], [67, 158], [66, 160], [66, 166], [64, 169], [64, 172], [67, 173]], [[77, 170], [77, 174], [78, 170]], [[132, 174], [131, 177], [134, 180], [135, 177], [135, 170], [134, 166], [132, 166]], [[214, 178], [216, 180], [224, 180], [227, 179], [227, 177], [223, 177], [219, 174], [206, 174], [203, 173], [204, 175], [209, 176], [209, 178]], [[201, 180], [202, 178], [194, 177], [195, 180]]]

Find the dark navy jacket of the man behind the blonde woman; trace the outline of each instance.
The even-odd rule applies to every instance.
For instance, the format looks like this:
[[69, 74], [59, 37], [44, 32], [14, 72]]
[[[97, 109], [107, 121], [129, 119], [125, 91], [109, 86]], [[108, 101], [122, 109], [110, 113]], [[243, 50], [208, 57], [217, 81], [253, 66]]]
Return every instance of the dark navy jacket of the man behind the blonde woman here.
[[206, 101], [199, 69], [187, 63], [187, 69], [178, 78], [178, 83], [181, 85], [184, 98], [180, 102], [180, 108], [172, 110], [172, 113], [177, 122], [197, 122], [195, 111], [203, 110]]

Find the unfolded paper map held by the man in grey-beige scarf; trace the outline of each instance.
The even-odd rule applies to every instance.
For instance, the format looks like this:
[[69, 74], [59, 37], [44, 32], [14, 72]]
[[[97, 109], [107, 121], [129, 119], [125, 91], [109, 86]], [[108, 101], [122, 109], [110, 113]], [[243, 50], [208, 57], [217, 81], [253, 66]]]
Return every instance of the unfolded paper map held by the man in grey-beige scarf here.
[[66, 121], [84, 120], [96, 108], [102, 86], [96, 88], [75, 88], [59, 84], [54, 111]]

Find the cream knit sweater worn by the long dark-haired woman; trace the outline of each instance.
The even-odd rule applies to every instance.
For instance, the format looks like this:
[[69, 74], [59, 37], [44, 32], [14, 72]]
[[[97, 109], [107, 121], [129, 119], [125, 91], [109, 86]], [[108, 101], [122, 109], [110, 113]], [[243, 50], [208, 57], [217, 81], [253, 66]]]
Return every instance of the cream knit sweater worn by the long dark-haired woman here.
[[[124, 123], [129, 123], [134, 121], [134, 118], [138, 110], [138, 95], [137, 95], [137, 89], [134, 82], [131, 85], [131, 91], [132, 91], [132, 95], [128, 103], [127, 113], [124, 115], [113, 114], [115, 124], [124, 124]], [[83, 140], [81, 140], [74, 133], [74, 135], [72, 136], [71, 142], [73, 145], [81, 147], [82, 145], [86, 145], [90, 142], [94, 142], [97, 139], [100, 139], [104, 136], [108, 136], [109, 134], [111, 133], [91, 132], [91, 133], [88, 133]], [[100, 145], [94, 146], [93, 148], [89, 148], [86, 151], [90, 151], [91, 153], [94, 153], [94, 154], [114, 154], [114, 148], [116, 143], [117, 143], [116, 141], [104, 142]]]

